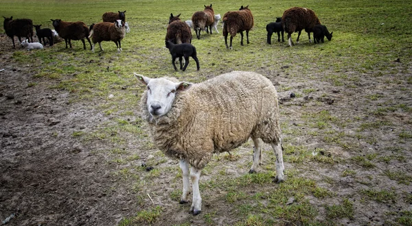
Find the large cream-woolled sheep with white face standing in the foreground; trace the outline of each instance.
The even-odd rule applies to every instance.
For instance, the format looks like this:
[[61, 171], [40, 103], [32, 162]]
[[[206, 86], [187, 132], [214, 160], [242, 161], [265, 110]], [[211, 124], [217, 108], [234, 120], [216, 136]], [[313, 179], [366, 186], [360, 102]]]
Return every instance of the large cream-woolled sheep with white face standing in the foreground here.
[[[171, 78], [135, 76], [147, 86], [141, 97], [141, 116], [148, 123], [153, 142], [165, 155], [180, 160], [183, 194], [187, 203], [192, 179], [194, 215], [201, 212], [199, 177], [214, 153], [230, 151], [249, 138], [255, 145], [255, 173], [262, 157], [262, 140], [270, 143], [276, 156], [276, 177], [284, 180], [275, 86], [253, 72], [233, 71], [200, 84]], [[247, 120], [245, 120], [247, 119]], [[189, 173], [189, 164], [192, 166]]]

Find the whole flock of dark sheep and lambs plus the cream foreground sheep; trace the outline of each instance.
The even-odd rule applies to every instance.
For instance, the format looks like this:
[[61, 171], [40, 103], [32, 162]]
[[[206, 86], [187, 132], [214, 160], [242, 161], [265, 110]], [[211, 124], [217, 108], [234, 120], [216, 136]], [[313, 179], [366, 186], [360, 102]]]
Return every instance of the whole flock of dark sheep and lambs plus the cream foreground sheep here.
[[[122, 51], [120, 41], [125, 35], [125, 13], [105, 13], [102, 23], [87, 27], [82, 22], [65, 22], [60, 19], [52, 20], [53, 26], [61, 38], [71, 47], [70, 40], [84, 38], [90, 45], [90, 37], [95, 43], [113, 41], [117, 50]], [[175, 60], [179, 58], [180, 68], [185, 71], [189, 57], [196, 61], [197, 69], [200, 66], [196, 56], [196, 48], [191, 44], [192, 32], [190, 25], [196, 32], [196, 38], [201, 38], [201, 32], [212, 34], [212, 27], [220, 20], [220, 14], [215, 15], [212, 5], [205, 5], [205, 10], [195, 12], [192, 21], [181, 21], [180, 14], [170, 14], [170, 21], [165, 36], [165, 45], [172, 55], [172, 64], [177, 71]], [[254, 25], [253, 14], [248, 6], [239, 10], [227, 12], [222, 17], [225, 45], [232, 48], [232, 39], [240, 33], [243, 45], [243, 32], [246, 32], [249, 44], [249, 31]], [[32, 21], [30, 19], [12, 20], [5, 18], [6, 34], [27, 38], [32, 37]], [[271, 44], [273, 32], [288, 34], [288, 45], [292, 46], [291, 34], [301, 30], [314, 33], [315, 42], [326, 36], [331, 40], [332, 33], [321, 25], [319, 18], [307, 8], [290, 8], [282, 18], [266, 26], [267, 42]], [[89, 32], [91, 30], [91, 32]], [[37, 35], [41, 31], [36, 27]], [[227, 45], [227, 36], [231, 36], [230, 45]], [[49, 38], [49, 33], [44, 36]], [[44, 42], [44, 40], [43, 40]], [[50, 42], [52, 45], [52, 42]], [[14, 40], [13, 40], [14, 46]], [[100, 49], [102, 49], [100, 45]], [[185, 58], [185, 66], [182, 64]], [[155, 146], [170, 158], [180, 161], [183, 175], [183, 193], [180, 203], [187, 203], [190, 193], [190, 179], [192, 180], [191, 212], [196, 215], [201, 212], [202, 199], [199, 191], [199, 179], [202, 169], [211, 160], [214, 153], [229, 152], [240, 147], [249, 138], [252, 138], [253, 164], [249, 173], [258, 171], [262, 163], [262, 142], [271, 144], [276, 156], [276, 182], [284, 181], [284, 164], [282, 157], [281, 130], [279, 126], [279, 106], [277, 91], [272, 82], [258, 73], [233, 71], [209, 79], [199, 84], [178, 81], [170, 77], [149, 78], [135, 73], [135, 77], [146, 86], [147, 90], [141, 97], [141, 117], [146, 121]], [[192, 166], [190, 168], [190, 166]]]

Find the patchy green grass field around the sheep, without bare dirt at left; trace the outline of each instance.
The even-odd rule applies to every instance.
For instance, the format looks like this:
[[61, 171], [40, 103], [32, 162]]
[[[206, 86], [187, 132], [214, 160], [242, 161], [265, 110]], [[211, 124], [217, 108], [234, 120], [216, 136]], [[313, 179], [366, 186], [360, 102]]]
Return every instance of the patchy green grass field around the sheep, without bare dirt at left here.
[[[203, 33], [201, 40], [192, 31], [201, 70], [190, 60], [185, 72], [175, 72], [164, 45], [170, 13], [185, 21], [210, 3], [221, 15], [249, 5], [255, 18], [251, 43], [240, 46], [238, 35], [233, 50], [227, 50], [221, 23], [220, 34]], [[294, 6], [314, 10], [333, 32], [332, 41], [314, 45], [302, 32], [293, 47], [277, 42], [276, 34], [272, 45], [266, 44], [266, 24]], [[104, 207], [104, 213], [121, 216], [110, 218], [109, 225], [412, 225], [412, 2], [2, 0], [0, 15], [32, 18], [52, 28], [50, 19], [90, 25], [117, 10], [126, 10], [131, 29], [122, 53], [113, 42], [102, 42], [104, 51], [91, 53], [80, 41], [72, 41], [73, 49], [60, 42], [43, 51], [14, 51], [10, 38], [3, 39], [7, 47], [0, 50], [3, 56], [10, 53], [12, 64], [30, 65], [27, 90], [46, 86], [67, 92], [69, 106], [103, 115], [97, 123], [84, 121], [87, 129], [71, 129], [69, 138], [102, 158], [100, 167], [113, 181], [104, 184], [109, 196], [127, 192], [133, 197], [126, 210]], [[190, 205], [179, 205], [179, 165], [153, 147], [139, 117], [144, 87], [133, 72], [201, 82], [229, 71], [255, 71], [276, 86], [286, 181], [272, 183], [270, 147], [264, 148], [260, 173], [247, 174], [249, 141], [232, 155], [214, 156], [203, 170], [203, 212], [191, 216]], [[291, 99], [290, 92], [296, 97]], [[60, 133], [49, 131], [50, 139]], [[142, 163], [155, 169], [147, 172]], [[0, 211], [2, 219], [8, 214]]]

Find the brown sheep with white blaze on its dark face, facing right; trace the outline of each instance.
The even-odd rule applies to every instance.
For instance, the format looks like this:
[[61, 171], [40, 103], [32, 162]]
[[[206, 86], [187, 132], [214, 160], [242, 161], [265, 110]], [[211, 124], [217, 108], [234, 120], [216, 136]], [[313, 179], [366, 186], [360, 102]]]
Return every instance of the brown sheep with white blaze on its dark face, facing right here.
[[117, 52], [122, 51], [122, 45], [120, 41], [124, 38], [126, 34], [126, 28], [121, 20], [117, 20], [115, 23], [100, 22], [96, 23], [91, 27], [91, 32], [89, 38], [93, 42], [91, 51], [94, 53], [94, 46], [98, 42], [100, 50], [103, 51], [102, 41], [113, 41], [116, 43]]

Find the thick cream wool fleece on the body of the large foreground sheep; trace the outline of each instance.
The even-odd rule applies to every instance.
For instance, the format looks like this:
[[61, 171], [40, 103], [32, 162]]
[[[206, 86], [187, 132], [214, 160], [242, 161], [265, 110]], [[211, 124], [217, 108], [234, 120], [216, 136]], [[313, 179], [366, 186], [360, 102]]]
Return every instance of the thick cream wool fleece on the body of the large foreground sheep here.
[[156, 121], [141, 97], [142, 118], [157, 148], [201, 169], [213, 153], [229, 151], [249, 137], [280, 140], [275, 86], [253, 72], [233, 71], [179, 92], [168, 114]]

